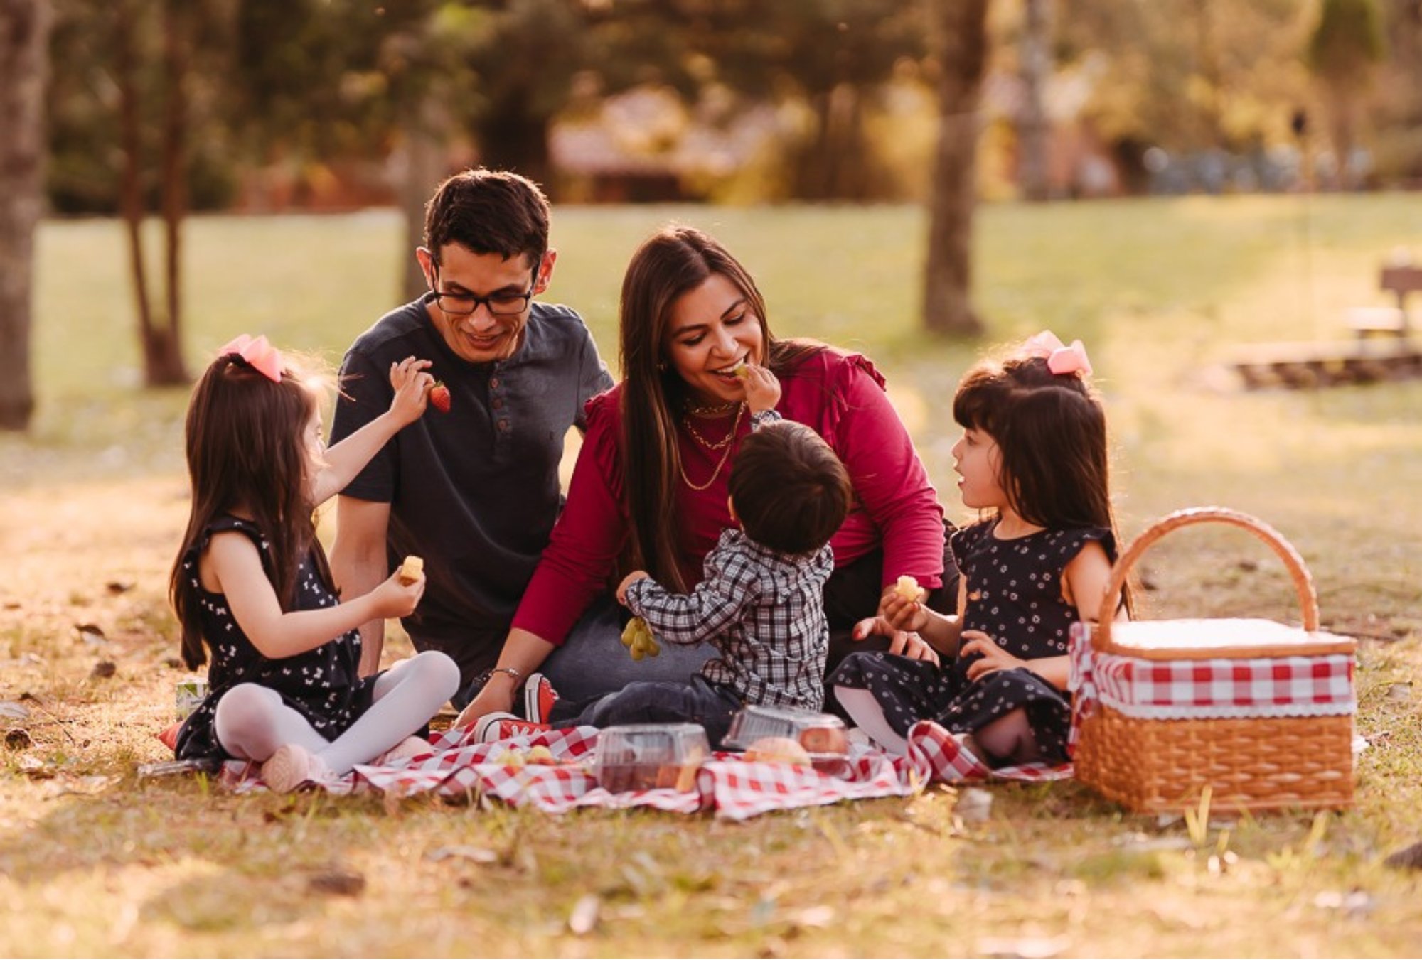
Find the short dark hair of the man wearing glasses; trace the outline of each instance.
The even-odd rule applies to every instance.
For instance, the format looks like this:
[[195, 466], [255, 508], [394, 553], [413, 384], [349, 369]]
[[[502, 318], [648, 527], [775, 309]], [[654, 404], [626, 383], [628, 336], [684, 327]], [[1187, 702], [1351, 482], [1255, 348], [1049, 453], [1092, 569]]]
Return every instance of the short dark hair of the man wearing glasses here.
[[425, 204], [425, 247], [435, 263], [445, 244], [458, 243], [505, 260], [528, 254], [533, 268], [547, 250], [547, 197], [538, 183], [481, 166], [455, 173], [435, 189]]

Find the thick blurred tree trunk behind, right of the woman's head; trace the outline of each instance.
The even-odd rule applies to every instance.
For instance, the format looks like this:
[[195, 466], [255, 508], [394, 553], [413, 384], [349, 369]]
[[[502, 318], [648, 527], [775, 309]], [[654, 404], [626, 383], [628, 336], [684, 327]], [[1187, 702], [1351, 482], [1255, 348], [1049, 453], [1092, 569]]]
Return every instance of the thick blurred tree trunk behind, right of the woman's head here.
[[983, 332], [970, 301], [977, 203], [978, 99], [987, 70], [988, 0], [937, 0], [939, 148], [929, 200], [923, 322], [957, 335]]

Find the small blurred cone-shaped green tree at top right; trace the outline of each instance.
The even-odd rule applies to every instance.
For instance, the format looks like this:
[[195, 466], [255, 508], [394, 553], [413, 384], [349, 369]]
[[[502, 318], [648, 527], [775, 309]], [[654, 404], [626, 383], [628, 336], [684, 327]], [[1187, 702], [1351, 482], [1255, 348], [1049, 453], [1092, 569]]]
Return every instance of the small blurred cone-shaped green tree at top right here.
[[1322, 0], [1318, 24], [1308, 38], [1308, 68], [1322, 82], [1338, 176], [1345, 185], [1362, 95], [1384, 51], [1376, 0]]

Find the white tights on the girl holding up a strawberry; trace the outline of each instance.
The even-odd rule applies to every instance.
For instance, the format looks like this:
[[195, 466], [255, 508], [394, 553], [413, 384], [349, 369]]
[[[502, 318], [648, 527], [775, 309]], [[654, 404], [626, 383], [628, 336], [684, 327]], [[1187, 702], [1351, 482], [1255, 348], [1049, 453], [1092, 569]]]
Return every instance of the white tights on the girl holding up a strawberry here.
[[218, 743], [239, 760], [263, 763], [294, 743], [336, 775], [370, 763], [428, 723], [459, 689], [459, 667], [438, 650], [401, 660], [375, 679], [374, 703], [336, 740], [319, 734], [282, 696], [257, 683], [239, 683], [218, 702]]

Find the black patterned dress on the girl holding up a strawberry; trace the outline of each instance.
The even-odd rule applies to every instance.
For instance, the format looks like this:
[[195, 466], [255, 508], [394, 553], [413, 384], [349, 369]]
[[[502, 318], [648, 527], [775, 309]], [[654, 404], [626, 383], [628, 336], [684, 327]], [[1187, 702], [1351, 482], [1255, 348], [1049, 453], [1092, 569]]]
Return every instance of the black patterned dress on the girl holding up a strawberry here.
[[[218, 700], [239, 683], [260, 683], [282, 694], [286, 706], [306, 717], [311, 727], [334, 740], [350, 727], [371, 704], [374, 677], [361, 679], [360, 632], [341, 633], [314, 650], [270, 660], [252, 646], [222, 594], [202, 589], [198, 579], [198, 558], [208, 548], [212, 535], [237, 530], [252, 538], [262, 552], [262, 565], [270, 571], [270, 544], [256, 524], [237, 517], [215, 520], [183, 557], [185, 575], [198, 588], [202, 609], [202, 636], [212, 663], [208, 666], [208, 699], [192, 711], [178, 731], [179, 760], [226, 757], [212, 719]], [[309, 611], [336, 606], [340, 599], [317, 574], [313, 557], [301, 561], [296, 572], [296, 609]]]

